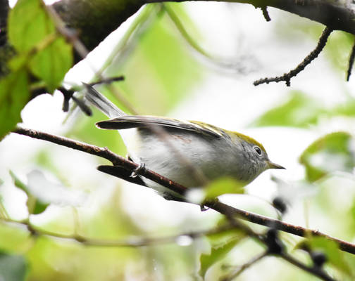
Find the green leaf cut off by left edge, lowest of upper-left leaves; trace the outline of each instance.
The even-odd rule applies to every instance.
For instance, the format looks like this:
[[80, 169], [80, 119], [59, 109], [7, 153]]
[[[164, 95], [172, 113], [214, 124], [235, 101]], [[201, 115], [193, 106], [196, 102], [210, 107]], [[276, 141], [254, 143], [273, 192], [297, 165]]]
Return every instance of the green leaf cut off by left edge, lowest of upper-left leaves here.
[[0, 140], [21, 122], [20, 112], [30, 98], [27, 72], [12, 72], [0, 80]]

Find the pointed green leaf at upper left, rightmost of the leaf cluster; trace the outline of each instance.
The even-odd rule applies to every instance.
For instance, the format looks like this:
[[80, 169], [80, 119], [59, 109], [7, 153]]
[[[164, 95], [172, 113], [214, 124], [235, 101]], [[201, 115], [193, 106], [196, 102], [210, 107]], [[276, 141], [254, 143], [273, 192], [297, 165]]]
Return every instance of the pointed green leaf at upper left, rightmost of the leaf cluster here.
[[46, 89], [52, 93], [73, 65], [72, 46], [63, 37], [39, 51], [30, 61], [33, 74], [46, 82]]

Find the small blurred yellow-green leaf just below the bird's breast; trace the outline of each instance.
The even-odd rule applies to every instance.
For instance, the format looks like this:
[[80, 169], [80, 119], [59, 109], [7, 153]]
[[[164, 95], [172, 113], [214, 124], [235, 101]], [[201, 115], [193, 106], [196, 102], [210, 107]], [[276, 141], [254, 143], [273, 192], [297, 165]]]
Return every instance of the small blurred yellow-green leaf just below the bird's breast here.
[[218, 178], [204, 188], [206, 199], [213, 199], [223, 194], [243, 194], [245, 183], [236, 181], [234, 178]]

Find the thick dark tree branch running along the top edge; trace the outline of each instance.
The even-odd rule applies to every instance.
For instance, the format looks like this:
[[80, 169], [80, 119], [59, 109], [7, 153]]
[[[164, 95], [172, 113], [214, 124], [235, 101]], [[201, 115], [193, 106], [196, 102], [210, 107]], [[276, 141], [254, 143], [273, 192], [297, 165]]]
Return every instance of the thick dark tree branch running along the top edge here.
[[[197, 0], [202, 1], [202, 0]], [[211, 1], [211, 0], [204, 0]], [[214, 0], [216, 1], [216, 0]], [[354, 4], [334, 0], [235, 0], [219, 2], [235, 2], [251, 4], [263, 8], [267, 6], [309, 18], [323, 23], [332, 30], [343, 30], [355, 34]], [[144, 4], [166, 1], [158, 0], [125, 0], [125, 1], [84, 1], [61, 0], [54, 8], [66, 26], [80, 32], [80, 39], [91, 51], [108, 34], [116, 30], [122, 22], [139, 10]], [[184, 2], [176, 0], [174, 2]], [[94, 24], [93, 24], [94, 22]]]

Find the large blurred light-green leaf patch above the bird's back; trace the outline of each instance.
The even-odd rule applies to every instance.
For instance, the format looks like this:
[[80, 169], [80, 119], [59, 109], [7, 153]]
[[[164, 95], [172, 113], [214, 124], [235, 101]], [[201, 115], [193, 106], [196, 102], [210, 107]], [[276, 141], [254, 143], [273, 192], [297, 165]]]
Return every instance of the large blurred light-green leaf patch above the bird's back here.
[[[186, 12], [180, 8], [178, 13], [184, 18]], [[113, 62], [106, 70], [109, 76], [125, 73], [118, 88], [140, 114], [165, 115], [201, 80], [204, 69], [184, 41], [168, 15], [158, 13], [124, 64], [118, 58], [119, 65]]]

